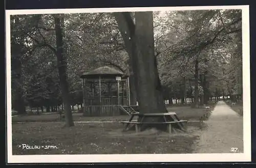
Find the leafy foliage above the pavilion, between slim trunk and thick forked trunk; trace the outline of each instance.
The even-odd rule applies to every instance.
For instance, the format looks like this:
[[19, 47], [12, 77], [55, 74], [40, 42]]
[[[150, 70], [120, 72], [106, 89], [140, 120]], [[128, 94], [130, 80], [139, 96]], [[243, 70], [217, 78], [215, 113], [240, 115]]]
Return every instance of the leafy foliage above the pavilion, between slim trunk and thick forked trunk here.
[[82, 96], [80, 75], [85, 71], [110, 66], [129, 74], [127, 53], [113, 16], [109, 13], [79, 13], [65, 18], [72, 97]]

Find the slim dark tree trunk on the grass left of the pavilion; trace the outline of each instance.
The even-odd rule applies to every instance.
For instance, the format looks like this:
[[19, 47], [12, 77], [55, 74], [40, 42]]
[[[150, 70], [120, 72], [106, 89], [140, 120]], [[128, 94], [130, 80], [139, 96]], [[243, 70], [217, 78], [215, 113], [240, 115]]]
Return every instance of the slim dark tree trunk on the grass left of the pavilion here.
[[63, 18], [56, 14], [54, 15], [54, 23], [55, 23], [55, 33], [56, 33], [56, 46], [57, 46], [57, 66], [59, 72], [59, 80], [60, 80], [60, 88], [62, 99], [65, 104], [65, 119], [66, 119], [66, 126], [71, 127], [74, 126], [71, 107], [70, 107], [70, 100], [69, 100], [69, 86], [68, 86], [68, 76], [67, 76], [67, 59], [66, 55], [63, 53]]

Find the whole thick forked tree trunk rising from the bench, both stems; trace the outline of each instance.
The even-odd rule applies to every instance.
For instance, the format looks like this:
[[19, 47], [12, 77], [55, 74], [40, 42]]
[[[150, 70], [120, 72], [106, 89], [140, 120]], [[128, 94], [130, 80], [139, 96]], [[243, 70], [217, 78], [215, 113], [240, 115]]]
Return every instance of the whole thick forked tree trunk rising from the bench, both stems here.
[[153, 13], [114, 13], [132, 61], [140, 113], [165, 113], [162, 87], [154, 49]]

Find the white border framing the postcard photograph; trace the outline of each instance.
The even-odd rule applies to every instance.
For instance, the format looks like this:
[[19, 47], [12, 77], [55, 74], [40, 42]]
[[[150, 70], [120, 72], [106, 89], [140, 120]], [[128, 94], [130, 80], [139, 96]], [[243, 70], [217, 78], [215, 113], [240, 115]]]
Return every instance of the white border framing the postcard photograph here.
[[[242, 9], [243, 37], [243, 133], [244, 153], [227, 154], [110, 154], [110, 155], [12, 155], [11, 124], [11, 49], [10, 15], [53, 14], [53, 13], [95, 13], [125, 11], [170, 11]], [[91, 9], [36, 9], [6, 10], [6, 86], [7, 86], [7, 158], [8, 163], [92, 163], [92, 162], [244, 162], [251, 161], [250, 120], [250, 52], [249, 52], [249, 6], [198, 6], [198, 7], [143, 7], [143, 8], [91, 8]], [[246, 121], [246, 122], [245, 122]]]

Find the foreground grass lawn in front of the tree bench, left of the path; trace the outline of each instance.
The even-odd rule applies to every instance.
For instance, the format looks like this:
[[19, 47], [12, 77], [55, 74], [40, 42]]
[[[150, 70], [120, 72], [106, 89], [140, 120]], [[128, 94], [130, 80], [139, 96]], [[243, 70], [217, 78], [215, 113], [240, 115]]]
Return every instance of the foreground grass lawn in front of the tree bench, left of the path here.
[[[12, 124], [13, 155], [30, 154], [153, 154], [192, 153], [199, 137], [197, 122], [188, 123], [186, 133], [168, 134], [156, 130], [122, 132], [114, 123], [76, 123], [63, 128], [61, 122]], [[19, 145], [56, 146], [57, 149], [22, 149]]]

